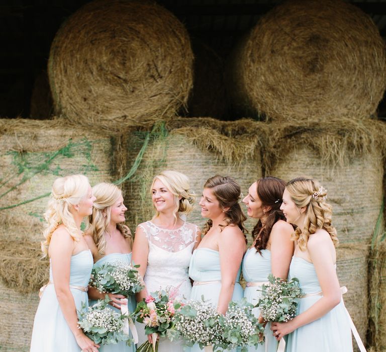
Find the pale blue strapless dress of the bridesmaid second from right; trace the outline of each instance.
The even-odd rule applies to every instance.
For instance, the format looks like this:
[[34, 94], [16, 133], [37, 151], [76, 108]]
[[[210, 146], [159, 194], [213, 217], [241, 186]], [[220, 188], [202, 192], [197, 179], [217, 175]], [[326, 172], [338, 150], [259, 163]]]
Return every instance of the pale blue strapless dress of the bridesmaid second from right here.
[[[261, 286], [248, 287], [248, 283], [268, 282], [268, 275], [271, 270], [271, 252], [268, 249], [261, 249], [261, 254], [253, 248], [249, 248], [243, 259], [243, 277], [247, 282], [244, 290], [244, 297], [247, 302], [256, 305], [261, 297]], [[253, 309], [256, 317], [260, 315], [258, 308]], [[265, 344], [259, 344], [255, 347], [248, 347], [248, 351], [276, 352], [278, 342], [270, 330], [271, 324], [268, 322], [265, 326]]]

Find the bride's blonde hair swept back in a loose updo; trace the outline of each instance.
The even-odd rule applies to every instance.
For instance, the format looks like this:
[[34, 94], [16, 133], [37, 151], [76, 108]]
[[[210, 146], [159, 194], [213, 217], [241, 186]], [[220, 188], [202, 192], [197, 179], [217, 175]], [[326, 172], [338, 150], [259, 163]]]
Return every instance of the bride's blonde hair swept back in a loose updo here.
[[[174, 215], [177, 213], [188, 215], [193, 210], [196, 195], [190, 190], [188, 177], [175, 170], [165, 170], [156, 175], [151, 183], [150, 191], [153, 189], [154, 182], [161, 181], [165, 187], [174, 195]], [[158, 216], [156, 211], [156, 216]]]

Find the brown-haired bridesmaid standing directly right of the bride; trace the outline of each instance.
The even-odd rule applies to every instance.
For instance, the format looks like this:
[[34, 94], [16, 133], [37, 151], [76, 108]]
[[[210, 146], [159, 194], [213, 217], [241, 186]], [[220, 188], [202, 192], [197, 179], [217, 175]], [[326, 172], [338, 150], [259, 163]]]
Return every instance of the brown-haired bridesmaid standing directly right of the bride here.
[[[230, 178], [216, 175], [204, 185], [201, 215], [208, 218], [204, 237], [194, 251], [189, 276], [194, 280], [190, 299], [210, 300], [225, 314], [231, 300], [243, 297], [239, 284], [241, 261], [246, 251], [246, 219], [240, 208], [240, 186]], [[198, 344], [192, 351], [200, 351]]]

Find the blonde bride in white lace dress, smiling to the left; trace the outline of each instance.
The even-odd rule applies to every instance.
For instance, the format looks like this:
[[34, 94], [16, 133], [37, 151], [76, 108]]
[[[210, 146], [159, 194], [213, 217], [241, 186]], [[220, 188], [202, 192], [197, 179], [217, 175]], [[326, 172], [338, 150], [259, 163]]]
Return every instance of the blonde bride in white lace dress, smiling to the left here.
[[[183, 173], [166, 170], [154, 177], [151, 185], [154, 217], [139, 224], [135, 232], [133, 262], [139, 264], [145, 289], [137, 295], [141, 301], [151, 292], [166, 287], [178, 288], [177, 298], [188, 299], [191, 284], [188, 277], [192, 251], [201, 240], [201, 231], [182, 219], [192, 210], [194, 195], [189, 191], [189, 180]], [[136, 323], [139, 345], [145, 336], [144, 325]], [[179, 342], [161, 338], [159, 352], [183, 351]]]

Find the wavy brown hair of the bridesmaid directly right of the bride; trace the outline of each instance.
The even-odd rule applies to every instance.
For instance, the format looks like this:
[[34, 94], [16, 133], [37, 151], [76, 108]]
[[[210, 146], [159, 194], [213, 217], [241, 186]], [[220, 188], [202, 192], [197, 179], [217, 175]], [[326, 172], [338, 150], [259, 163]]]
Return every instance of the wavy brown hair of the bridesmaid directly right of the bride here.
[[[218, 200], [221, 208], [228, 208], [226, 214], [226, 225], [236, 225], [243, 232], [245, 237], [245, 243], [247, 243], [246, 233], [247, 229], [244, 227], [244, 221], [247, 219], [240, 207], [241, 201], [241, 189], [240, 185], [231, 177], [216, 175], [207, 180], [204, 188], [212, 190], [214, 196]], [[205, 235], [212, 227], [213, 222], [211, 219], [205, 224], [203, 234]]]

